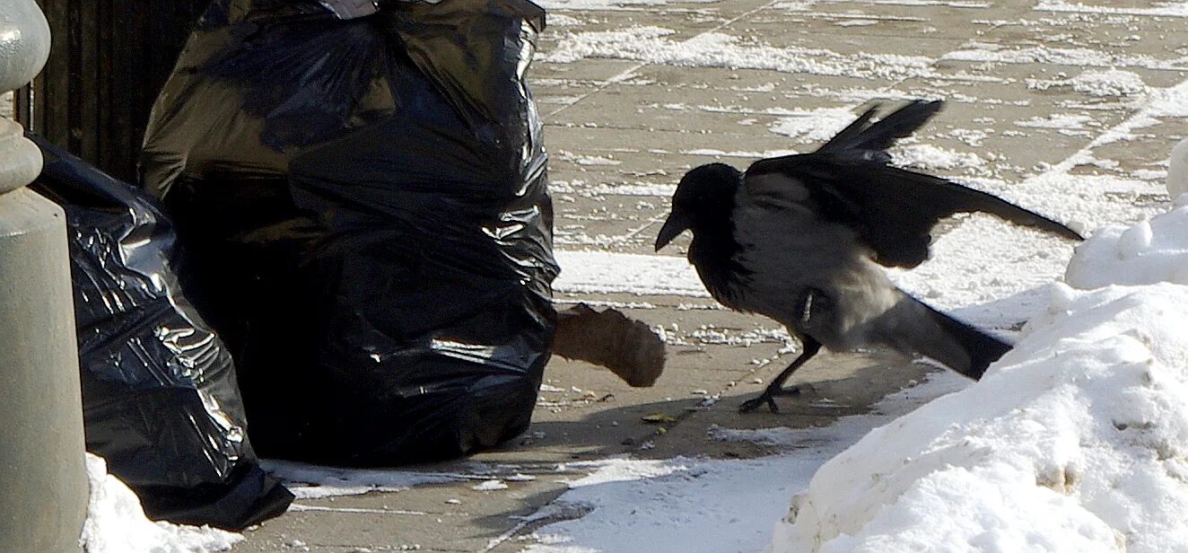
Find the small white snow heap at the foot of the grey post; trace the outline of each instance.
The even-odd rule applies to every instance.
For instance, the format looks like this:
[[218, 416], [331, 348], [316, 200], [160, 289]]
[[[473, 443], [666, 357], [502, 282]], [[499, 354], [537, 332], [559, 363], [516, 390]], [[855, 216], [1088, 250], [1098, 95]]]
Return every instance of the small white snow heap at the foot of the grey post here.
[[102, 457], [87, 453], [90, 507], [82, 527], [87, 553], [206, 553], [230, 549], [244, 539], [214, 528], [152, 522], [140, 499], [107, 473]]

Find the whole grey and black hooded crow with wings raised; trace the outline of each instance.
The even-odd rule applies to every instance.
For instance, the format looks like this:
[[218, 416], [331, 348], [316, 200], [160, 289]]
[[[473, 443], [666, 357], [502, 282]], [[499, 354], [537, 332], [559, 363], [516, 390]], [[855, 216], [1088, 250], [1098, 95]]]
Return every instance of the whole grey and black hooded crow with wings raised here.
[[758, 397], [777, 413], [788, 377], [824, 346], [883, 346], [922, 354], [978, 379], [1011, 348], [891, 283], [884, 266], [929, 257], [931, 228], [955, 213], [985, 212], [1061, 237], [1056, 221], [955, 182], [890, 165], [897, 138], [920, 128], [941, 101], [914, 101], [872, 122], [877, 107], [813, 153], [690, 170], [672, 195], [656, 250], [693, 231], [689, 262], [726, 307], [770, 316], [800, 340], [801, 354]]

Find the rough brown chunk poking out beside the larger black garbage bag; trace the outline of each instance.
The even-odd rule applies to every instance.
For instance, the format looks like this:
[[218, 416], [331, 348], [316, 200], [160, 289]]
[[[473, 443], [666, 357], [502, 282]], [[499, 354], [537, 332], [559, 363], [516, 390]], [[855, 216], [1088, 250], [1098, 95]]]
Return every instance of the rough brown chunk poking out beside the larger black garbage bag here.
[[664, 340], [647, 325], [615, 309], [596, 310], [584, 303], [557, 314], [551, 351], [605, 366], [636, 388], [655, 384], [664, 371]]

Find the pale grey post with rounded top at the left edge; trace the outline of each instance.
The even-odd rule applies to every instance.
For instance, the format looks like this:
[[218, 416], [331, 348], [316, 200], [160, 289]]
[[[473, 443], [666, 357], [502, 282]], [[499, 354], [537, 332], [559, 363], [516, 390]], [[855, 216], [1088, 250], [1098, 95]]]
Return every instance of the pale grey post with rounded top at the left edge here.
[[[45, 64], [33, 0], [0, 0], [0, 90]], [[78, 553], [89, 496], [62, 208], [25, 189], [40, 151], [0, 118], [0, 548]]]

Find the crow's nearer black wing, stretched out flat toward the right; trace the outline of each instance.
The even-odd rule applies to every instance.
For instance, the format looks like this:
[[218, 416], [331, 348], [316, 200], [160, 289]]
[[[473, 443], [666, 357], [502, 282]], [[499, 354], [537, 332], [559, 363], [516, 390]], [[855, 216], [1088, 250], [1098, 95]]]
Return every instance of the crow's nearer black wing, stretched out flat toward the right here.
[[991, 194], [853, 153], [763, 159], [747, 169], [744, 186], [772, 203], [803, 205], [816, 216], [853, 228], [886, 266], [914, 268], [928, 259], [933, 226], [955, 213], [991, 213], [1081, 239], [1064, 225]]

